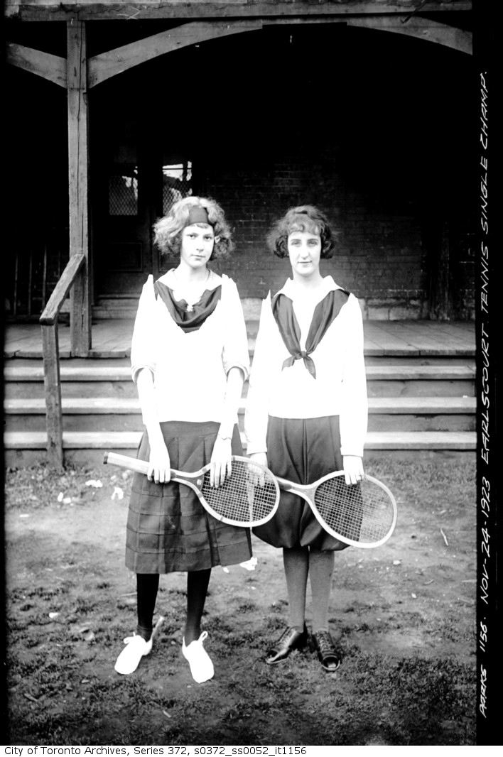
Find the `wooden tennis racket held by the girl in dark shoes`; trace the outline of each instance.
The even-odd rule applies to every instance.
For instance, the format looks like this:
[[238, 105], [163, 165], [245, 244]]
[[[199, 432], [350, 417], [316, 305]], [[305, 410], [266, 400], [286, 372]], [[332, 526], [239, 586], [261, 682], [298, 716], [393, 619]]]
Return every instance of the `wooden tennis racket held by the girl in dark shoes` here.
[[396, 502], [389, 488], [364, 475], [358, 484], [346, 484], [344, 471], [323, 476], [314, 484], [294, 484], [277, 478], [283, 491], [298, 494], [311, 507], [327, 533], [353, 547], [380, 547], [396, 524]]

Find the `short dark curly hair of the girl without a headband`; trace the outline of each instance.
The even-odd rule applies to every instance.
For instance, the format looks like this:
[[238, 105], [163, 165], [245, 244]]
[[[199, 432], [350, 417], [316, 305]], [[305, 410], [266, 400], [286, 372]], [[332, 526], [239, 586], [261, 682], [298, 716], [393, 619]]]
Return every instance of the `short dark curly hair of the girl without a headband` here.
[[332, 257], [333, 233], [324, 213], [314, 205], [298, 205], [286, 211], [267, 235], [267, 246], [278, 257], [288, 257], [288, 238], [293, 232], [310, 232], [321, 238], [321, 256]]

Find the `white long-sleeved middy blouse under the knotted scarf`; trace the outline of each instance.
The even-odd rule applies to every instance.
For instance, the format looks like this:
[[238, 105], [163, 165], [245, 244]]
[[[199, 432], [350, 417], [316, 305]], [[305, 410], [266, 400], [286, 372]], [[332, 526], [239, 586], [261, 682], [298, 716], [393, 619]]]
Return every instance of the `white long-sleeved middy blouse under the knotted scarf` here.
[[[309, 326], [318, 302], [329, 291], [340, 289], [332, 276], [313, 298], [288, 279], [280, 291], [292, 300], [305, 349]], [[262, 303], [245, 413], [247, 453], [267, 452], [267, 416], [319, 418], [339, 416], [341, 454], [363, 456], [367, 433], [367, 383], [364, 365], [364, 333], [358, 299], [350, 294], [339, 315], [311, 353], [317, 377], [303, 360], [282, 369], [289, 351], [280, 335], [271, 308], [270, 294]]]

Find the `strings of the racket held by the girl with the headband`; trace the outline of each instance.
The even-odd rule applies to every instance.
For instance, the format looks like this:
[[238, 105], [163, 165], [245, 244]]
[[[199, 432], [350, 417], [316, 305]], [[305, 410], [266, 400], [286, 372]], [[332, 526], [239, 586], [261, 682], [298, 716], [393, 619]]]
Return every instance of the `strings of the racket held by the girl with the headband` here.
[[230, 477], [218, 487], [211, 486], [206, 472], [201, 493], [218, 515], [239, 523], [267, 518], [278, 497], [276, 479], [269, 472], [240, 460], [233, 462]]

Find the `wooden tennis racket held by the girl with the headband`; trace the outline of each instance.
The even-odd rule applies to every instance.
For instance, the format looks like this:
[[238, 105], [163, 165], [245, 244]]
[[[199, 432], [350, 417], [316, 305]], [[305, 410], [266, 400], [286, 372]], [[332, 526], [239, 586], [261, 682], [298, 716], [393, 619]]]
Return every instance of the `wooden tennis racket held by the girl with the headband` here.
[[[105, 463], [147, 474], [148, 463], [135, 457], [105, 452]], [[185, 484], [197, 494], [207, 512], [223, 523], [255, 526], [273, 517], [280, 503], [276, 478], [265, 466], [233, 455], [232, 473], [218, 487], [210, 483], [211, 463], [194, 473], [171, 470], [171, 481]]]

